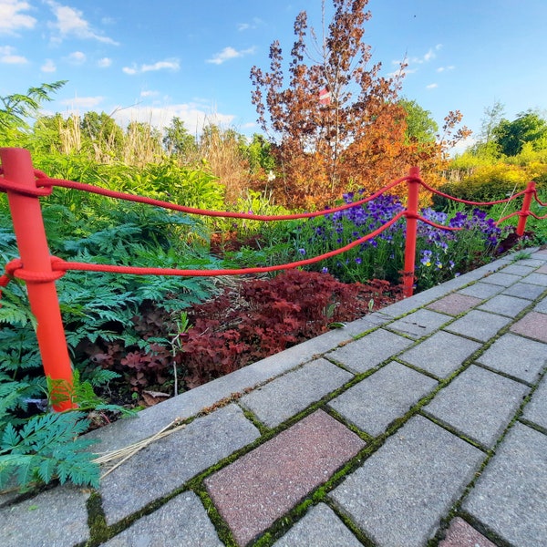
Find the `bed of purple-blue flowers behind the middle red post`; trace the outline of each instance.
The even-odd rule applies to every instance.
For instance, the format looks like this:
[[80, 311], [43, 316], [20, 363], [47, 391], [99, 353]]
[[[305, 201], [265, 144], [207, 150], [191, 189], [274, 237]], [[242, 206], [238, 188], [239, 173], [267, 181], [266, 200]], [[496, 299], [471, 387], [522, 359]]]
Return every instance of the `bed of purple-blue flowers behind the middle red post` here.
[[[361, 199], [359, 194], [347, 193], [344, 201], [353, 203]], [[295, 249], [301, 256], [333, 251], [377, 230], [404, 209], [397, 197], [384, 194], [361, 206], [304, 222], [296, 231]], [[495, 222], [478, 209], [449, 215], [425, 208], [420, 215], [435, 224], [459, 229], [442, 230], [418, 222], [416, 278], [421, 289], [457, 275], [480, 256], [491, 253], [502, 235]], [[398, 283], [404, 267], [406, 230], [405, 220], [400, 219], [375, 238], [327, 259], [316, 268], [347, 283], [372, 278]]]

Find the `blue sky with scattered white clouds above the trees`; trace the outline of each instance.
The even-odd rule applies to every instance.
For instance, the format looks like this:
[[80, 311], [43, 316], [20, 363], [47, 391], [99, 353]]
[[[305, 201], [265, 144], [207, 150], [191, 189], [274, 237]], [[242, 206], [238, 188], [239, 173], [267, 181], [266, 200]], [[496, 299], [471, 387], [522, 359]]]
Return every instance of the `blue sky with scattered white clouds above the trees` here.
[[[327, 15], [332, 6], [326, 0]], [[459, 109], [480, 130], [495, 101], [514, 119], [547, 108], [545, 0], [370, 0], [366, 43], [390, 73], [407, 57], [402, 95], [439, 125]], [[251, 135], [253, 65], [294, 18], [321, 31], [321, 0], [0, 0], [0, 96], [68, 80], [46, 113], [105, 111], [191, 131], [206, 122]]]

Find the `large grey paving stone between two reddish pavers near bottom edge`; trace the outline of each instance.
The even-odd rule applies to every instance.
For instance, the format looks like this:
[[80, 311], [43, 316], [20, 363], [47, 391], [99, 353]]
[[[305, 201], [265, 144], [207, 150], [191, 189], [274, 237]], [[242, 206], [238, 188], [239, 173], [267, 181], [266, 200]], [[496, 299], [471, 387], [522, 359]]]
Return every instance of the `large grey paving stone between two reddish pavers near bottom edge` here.
[[423, 547], [485, 455], [415, 416], [329, 497], [382, 547]]

